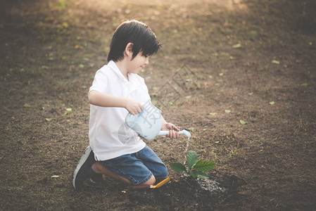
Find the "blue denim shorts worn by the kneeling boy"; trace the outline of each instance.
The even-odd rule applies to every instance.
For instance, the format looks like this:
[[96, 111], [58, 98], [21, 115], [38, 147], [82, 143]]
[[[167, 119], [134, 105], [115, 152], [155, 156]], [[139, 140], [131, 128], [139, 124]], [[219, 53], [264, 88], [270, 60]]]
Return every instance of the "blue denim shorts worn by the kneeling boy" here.
[[148, 146], [137, 153], [121, 155], [101, 163], [111, 172], [129, 179], [133, 185], [144, 184], [152, 175], [156, 181], [161, 181], [168, 175], [163, 161]]

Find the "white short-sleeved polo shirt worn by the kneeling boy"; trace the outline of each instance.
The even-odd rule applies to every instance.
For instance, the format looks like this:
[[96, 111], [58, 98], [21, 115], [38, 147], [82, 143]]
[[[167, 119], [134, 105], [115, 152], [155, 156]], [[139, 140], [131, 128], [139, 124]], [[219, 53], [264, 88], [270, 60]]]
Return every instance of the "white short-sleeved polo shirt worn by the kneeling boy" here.
[[[151, 98], [144, 79], [137, 74], [128, 74], [127, 80], [118, 66], [110, 60], [96, 72], [89, 92], [132, 98], [145, 104]], [[136, 132], [125, 124], [128, 111], [125, 108], [90, 105], [89, 141], [96, 160], [108, 160], [120, 155], [136, 153], [146, 146]]]

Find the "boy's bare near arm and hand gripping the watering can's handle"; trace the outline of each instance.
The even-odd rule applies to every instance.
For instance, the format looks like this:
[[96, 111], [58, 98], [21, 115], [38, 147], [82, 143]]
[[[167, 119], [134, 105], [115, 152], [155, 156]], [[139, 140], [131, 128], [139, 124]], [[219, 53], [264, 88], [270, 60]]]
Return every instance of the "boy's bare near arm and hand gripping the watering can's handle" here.
[[94, 106], [101, 107], [121, 107], [126, 108], [132, 115], [136, 115], [143, 110], [143, 106], [138, 101], [129, 98], [112, 96], [110, 94], [101, 93], [92, 90], [89, 92], [89, 103]]

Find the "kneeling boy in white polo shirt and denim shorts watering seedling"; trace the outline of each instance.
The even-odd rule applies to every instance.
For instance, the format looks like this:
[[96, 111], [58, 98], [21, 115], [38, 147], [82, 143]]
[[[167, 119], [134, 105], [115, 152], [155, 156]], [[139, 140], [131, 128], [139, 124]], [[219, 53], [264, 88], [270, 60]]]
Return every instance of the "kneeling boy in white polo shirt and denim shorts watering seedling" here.
[[[132, 129], [124, 129], [122, 134], [127, 113], [140, 113], [151, 100], [144, 79], [137, 74], [158, 49], [156, 35], [144, 23], [129, 20], [115, 30], [108, 65], [96, 72], [89, 89], [90, 146], [73, 175], [76, 190], [88, 178], [101, 180], [102, 174], [129, 185], [152, 185], [167, 177], [167, 167]], [[178, 138], [179, 129], [162, 120], [161, 129], [170, 131], [167, 136]]]

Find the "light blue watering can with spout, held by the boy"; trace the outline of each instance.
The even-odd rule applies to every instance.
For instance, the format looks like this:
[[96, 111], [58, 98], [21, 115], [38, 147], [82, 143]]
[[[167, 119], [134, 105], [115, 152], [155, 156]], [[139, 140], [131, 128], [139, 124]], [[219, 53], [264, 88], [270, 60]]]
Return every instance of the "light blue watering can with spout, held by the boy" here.
[[[125, 118], [125, 123], [128, 127], [132, 128], [139, 136], [144, 137], [146, 140], [151, 140], [156, 136], [165, 136], [169, 134], [168, 130], [160, 130], [163, 126], [163, 117], [161, 116], [161, 110], [153, 106], [153, 104], [148, 101], [144, 104], [144, 109], [141, 113], [137, 115], [132, 115], [128, 113]], [[179, 134], [184, 134], [186, 136], [191, 136], [191, 134], [182, 129], [178, 132]]]

